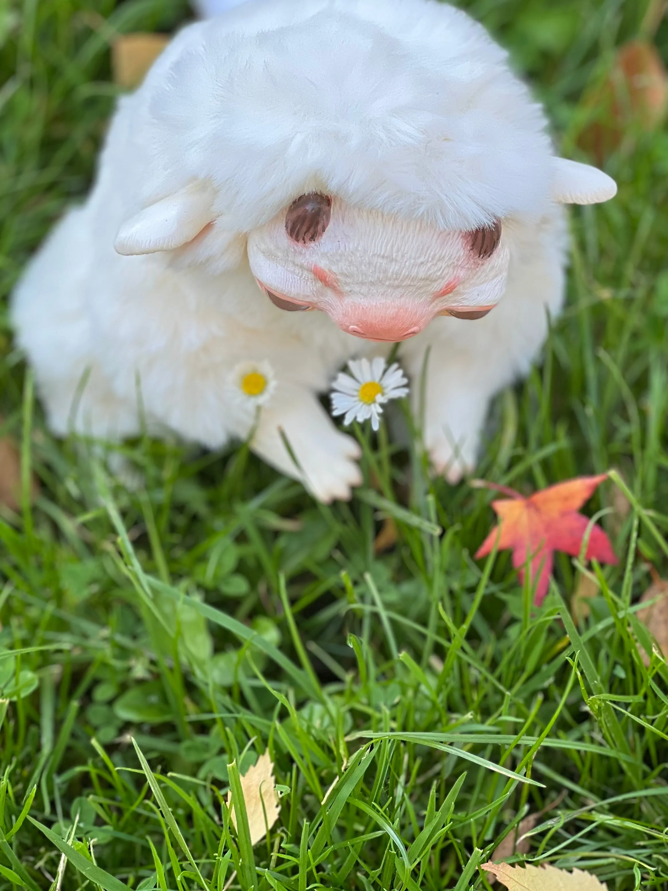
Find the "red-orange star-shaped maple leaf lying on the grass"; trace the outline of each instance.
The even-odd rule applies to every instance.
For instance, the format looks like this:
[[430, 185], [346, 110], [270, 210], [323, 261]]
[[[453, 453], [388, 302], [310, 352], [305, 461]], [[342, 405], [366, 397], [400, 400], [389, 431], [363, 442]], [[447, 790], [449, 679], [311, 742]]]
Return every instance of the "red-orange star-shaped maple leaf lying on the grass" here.
[[[580, 553], [590, 519], [577, 511], [604, 479], [607, 479], [607, 473], [598, 477], [577, 477], [534, 492], [528, 498], [504, 486], [480, 483], [510, 497], [492, 502], [501, 522], [487, 535], [476, 559], [491, 553], [498, 537], [500, 551], [512, 548], [513, 566], [519, 570], [523, 583], [528, 560], [531, 583], [535, 583], [535, 603], [540, 606], [548, 593], [554, 552], [563, 551], [574, 557]], [[594, 557], [601, 563], [617, 562], [610, 539], [596, 524], [591, 527], [584, 556], [587, 560]]]

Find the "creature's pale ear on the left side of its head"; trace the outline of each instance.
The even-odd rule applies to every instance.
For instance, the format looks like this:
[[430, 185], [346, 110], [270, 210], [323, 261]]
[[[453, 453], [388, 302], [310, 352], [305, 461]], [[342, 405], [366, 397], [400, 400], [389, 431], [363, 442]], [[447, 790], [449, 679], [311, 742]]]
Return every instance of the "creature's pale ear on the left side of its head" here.
[[150, 204], [120, 227], [115, 249], [133, 256], [182, 247], [214, 219], [214, 197], [211, 185], [195, 183]]

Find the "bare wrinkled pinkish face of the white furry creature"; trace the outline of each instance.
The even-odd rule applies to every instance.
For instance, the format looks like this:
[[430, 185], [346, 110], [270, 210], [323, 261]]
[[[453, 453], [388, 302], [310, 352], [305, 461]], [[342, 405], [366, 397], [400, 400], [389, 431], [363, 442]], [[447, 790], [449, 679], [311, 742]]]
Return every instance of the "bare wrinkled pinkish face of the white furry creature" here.
[[435, 315], [486, 315], [505, 285], [502, 236], [498, 220], [444, 232], [311, 192], [250, 234], [248, 257], [277, 307], [321, 309], [356, 337], [395, 341]]

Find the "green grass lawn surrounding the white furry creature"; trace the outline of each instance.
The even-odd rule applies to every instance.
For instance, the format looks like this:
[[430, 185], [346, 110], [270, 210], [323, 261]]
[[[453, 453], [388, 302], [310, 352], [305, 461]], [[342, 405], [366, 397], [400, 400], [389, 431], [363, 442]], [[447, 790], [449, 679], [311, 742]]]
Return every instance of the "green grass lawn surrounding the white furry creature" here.
[[[462, 5], [577, 155], [582, 91], [646, 4]], [[0, 5], [3, 295], [86, 191], [115, 94], [108, 37], [185, 12]], [[665, 57], [665, 22], [657, 42]], [[633, 606], [648, 564], [668, 572], [668, 137], [630, 135], [607, 168], [619, 196], [574, 211], [568, 308], [542, 365], [496, 400], [477, 471], [530, 492], [619, 470], [631, 510], [607, 482], [591, 513], [620, 565], [589, 569], [600, 591], [577, 626], [577, 562], [558, 558], [532, 609], [508, 553], [472, 558], [491, 493], [431, 480], [417, 439], [365, 442], [350, 504], [313, 503], [244, 448], [148, 438], [123, 449], [146, 478], [127, 492], [45, 430], [3, 301], [2, 432], [42, 494], [0, 520], [2, 891], [56, 887], [63, 865], [63, 889], [485, 888], [479, 864], [558, 797], [529, 859], [610, 891], [668, 888], [668, 667], [644, 666]], [[379, 556], [371, 480], [399, 534]], [[281, 819], [250, 850], [226, 816], [227, 765], [244, 772], [267, 747]]]

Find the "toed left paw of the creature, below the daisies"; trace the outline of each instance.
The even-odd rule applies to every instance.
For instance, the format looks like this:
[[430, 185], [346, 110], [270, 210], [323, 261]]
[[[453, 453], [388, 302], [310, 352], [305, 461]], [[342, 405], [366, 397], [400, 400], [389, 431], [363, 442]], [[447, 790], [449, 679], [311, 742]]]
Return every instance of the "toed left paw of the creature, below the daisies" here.
[[337, 433], [327, 448], [317, 448], [301, 460], [304, 484], [314, 498], [329, 504], [348, 501], [354, 486], [361, 486], [362, 471], [357, 462], [362, 451], [352, 437]]

